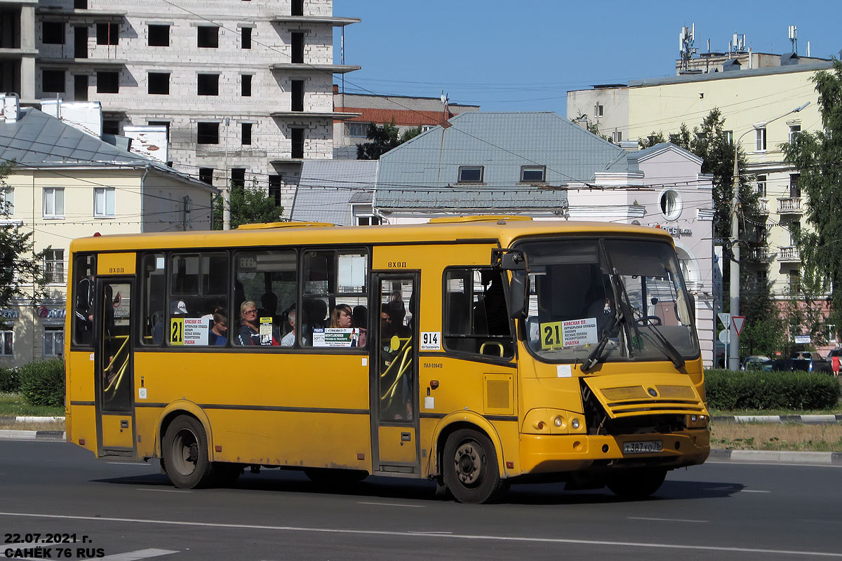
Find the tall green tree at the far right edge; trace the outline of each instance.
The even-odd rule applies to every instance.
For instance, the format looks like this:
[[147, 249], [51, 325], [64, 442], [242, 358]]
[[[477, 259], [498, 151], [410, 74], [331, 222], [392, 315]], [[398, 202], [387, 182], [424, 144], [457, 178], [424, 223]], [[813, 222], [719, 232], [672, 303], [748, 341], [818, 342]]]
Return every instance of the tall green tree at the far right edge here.
[[829, 324], [842, 326], [842, 62], [813, 76], [823, 130], [802, 132], [781, 145], [784, 159], [800, 172], [807, 198], [807, 223], [796, 236], [802, 277], [818, 277], [830, 288]]

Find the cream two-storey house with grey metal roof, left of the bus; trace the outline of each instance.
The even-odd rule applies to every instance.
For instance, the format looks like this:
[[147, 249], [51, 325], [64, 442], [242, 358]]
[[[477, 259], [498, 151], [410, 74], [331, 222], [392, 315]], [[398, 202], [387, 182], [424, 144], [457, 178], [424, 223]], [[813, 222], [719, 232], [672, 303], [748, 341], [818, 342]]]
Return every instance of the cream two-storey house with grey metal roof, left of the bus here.
[[47, 249], [45, 297], [0, 310], [0, 366], [9, 367], [61, 355], [71, 240], [209, 230], [214, 189], [38, 109], [19, 108], [17, 96], [0, 98], [0, 161], [14, 162], [0, 190], [10, 210], [0, 224], [32, 232], [35, 251]]

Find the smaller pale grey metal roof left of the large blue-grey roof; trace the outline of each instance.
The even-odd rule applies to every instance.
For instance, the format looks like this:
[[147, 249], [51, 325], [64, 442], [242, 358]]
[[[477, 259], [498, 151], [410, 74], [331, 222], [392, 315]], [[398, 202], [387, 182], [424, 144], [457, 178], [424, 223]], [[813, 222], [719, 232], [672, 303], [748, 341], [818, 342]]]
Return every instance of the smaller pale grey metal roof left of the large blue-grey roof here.
[[376, 176], [376, 160], [305, 160], [290, 220], [352, 225], [351, 203], [370, 202]]

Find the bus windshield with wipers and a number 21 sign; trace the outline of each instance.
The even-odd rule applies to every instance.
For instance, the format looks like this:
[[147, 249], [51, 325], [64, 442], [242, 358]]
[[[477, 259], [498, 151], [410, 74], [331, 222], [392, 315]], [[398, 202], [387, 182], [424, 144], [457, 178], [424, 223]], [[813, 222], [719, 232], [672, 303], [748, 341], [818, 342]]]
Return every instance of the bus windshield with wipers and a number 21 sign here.
[[548, 362], [670, 360], [699, 355], [678, 258], [663, 241], [528, 241], [526, 335]]

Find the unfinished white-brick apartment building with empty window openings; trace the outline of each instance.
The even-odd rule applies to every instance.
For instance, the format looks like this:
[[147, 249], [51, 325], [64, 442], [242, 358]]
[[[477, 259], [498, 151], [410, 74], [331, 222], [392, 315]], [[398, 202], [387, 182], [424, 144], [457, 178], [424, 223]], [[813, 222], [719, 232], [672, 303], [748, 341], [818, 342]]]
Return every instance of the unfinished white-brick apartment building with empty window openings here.
[[166, 127], [173, 167], [289, 209], [301, 162], [333, 155], [333, 74], [359, 69], [333, 29], [359, 21], [331, 0], [2, 0], [0, 91], [99, 102], [104, 134]]

